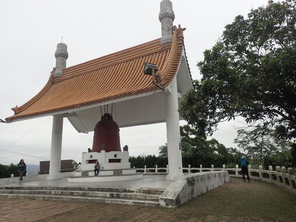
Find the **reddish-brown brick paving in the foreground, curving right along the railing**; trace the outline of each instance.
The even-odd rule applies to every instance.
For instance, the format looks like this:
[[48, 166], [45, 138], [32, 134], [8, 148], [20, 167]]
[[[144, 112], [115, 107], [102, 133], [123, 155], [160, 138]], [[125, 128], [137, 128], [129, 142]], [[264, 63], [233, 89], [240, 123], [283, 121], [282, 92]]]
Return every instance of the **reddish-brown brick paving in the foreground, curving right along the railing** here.
[[296, 196], [263, 182], [242, 178], [196, 197], [176, 209], [136, 205], [0, 199], [1, 222], [106, 221], [296, 221]]

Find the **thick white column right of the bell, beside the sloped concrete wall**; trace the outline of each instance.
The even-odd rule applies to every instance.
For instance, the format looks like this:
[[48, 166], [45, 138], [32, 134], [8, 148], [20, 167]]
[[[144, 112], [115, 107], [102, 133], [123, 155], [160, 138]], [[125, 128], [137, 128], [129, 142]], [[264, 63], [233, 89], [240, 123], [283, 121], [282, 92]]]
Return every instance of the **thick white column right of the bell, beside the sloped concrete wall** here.
[[173, 180], [175, 176], [183, 174], [176, 77], [171, 83], [170, 89], [171, 93], [165, 95], [169, 167], [167, 180]]

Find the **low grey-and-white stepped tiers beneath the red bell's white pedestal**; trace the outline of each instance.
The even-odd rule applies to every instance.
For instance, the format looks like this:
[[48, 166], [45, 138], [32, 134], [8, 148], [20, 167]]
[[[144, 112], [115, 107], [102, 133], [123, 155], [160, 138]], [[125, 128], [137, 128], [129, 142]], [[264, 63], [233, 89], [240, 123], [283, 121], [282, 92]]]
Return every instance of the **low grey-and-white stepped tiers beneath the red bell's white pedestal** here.
[[[93, 164], [91, 164], [93, 165]], [[68, 182], [109, 182], [135, 180], [143, 178], [143, 173], [137, 173], [136, 168], [100, 170], [94, 176], [94, 170], [77, 170], [74, 176], [68, 176]]]

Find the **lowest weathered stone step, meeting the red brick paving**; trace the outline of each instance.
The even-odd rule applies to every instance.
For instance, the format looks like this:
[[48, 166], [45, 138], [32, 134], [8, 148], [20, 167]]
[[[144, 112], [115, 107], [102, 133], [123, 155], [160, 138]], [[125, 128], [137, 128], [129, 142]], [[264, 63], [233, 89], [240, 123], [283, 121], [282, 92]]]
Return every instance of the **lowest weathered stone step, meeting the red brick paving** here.
[[0, 194], [0, 198], [14, 199], [36, 199], [36, 200], [59, 200], [71, 202], [96, 202], [110, 204], [126, 204], [126, 205], [141, 205], [147, 207], [160, 207], [159, 201], [152, 200], [136, 200], [136, 199], [120, 199], [107, 197], [81, 197], [81, 196], [61, 196], [61, 195], [41, 195], [41, 194]]

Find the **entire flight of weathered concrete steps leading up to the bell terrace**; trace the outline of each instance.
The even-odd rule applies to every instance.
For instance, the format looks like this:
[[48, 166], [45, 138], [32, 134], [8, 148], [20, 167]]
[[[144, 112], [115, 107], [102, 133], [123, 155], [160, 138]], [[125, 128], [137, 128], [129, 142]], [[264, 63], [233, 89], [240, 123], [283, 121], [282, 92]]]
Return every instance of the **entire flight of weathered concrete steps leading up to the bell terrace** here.
[[89, 186], [4, 186], [0, 187], [0, 198], [29, 198], [160, 207], [159, 197], [164, 190]]

